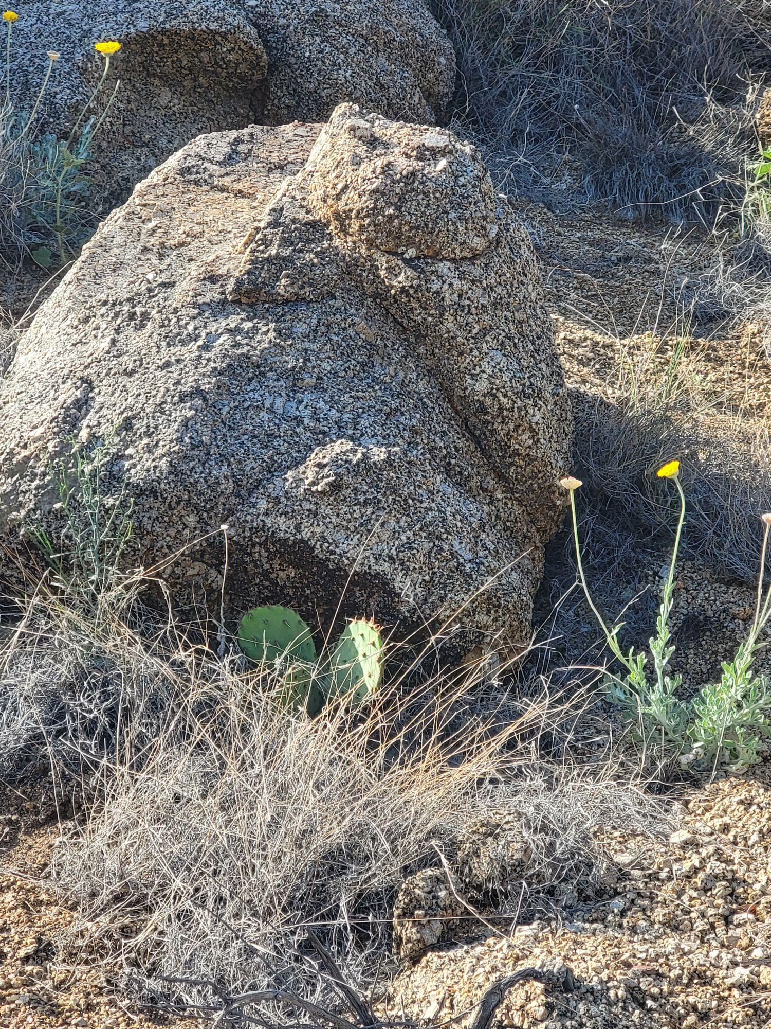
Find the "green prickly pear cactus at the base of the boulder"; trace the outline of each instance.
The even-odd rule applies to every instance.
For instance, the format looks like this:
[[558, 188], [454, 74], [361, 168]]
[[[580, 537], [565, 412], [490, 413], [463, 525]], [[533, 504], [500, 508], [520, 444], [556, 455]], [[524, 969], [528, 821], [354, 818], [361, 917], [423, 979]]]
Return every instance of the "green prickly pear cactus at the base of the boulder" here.
[[237, 639], [248, 658], [278, 673], [279, 702], [311, 717], [328, 704], [361, 704], [376, 691], [382, 675], [382, 637], [363, 618], [350, 622], [321, 655], [310, 628], [288, 607], [247, 611]]

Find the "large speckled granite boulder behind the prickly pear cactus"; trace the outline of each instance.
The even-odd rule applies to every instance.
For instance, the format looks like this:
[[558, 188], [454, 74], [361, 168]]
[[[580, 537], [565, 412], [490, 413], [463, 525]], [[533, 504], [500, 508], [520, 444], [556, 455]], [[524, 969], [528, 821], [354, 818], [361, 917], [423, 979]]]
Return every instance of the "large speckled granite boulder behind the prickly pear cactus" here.
[[233, 615], [325, 619], [344, 594], [340, 614], [463, 608], [528, 638], [570, 411], [528, 237], [436, 137], [343, 105], [153, 172], [0, 387], [0, 536], [58, 531], [51, 460], [75, 439], [134, 499], [135, 561], [189, 544], [180, 604], [219, 590], [227, 523]]

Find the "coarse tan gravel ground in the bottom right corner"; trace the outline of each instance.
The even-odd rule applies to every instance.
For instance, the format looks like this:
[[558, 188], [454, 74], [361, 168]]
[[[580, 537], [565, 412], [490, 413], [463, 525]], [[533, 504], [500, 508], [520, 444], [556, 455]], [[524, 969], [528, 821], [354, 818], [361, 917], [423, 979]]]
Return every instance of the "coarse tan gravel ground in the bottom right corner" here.
[[[562, 924], [427, 954], [401, 973], [393, 1012], [425, 1023], [460, 1019], [499, 978], [563, 963], [573, 993], [515, 987], [494, 1026], [743, 1026], [771, 1024], [771, 775], [698, 790], [666, 844], [603, 842], [616, 896]], [[464, 1014], [465, 1013], [465, 1014]]]

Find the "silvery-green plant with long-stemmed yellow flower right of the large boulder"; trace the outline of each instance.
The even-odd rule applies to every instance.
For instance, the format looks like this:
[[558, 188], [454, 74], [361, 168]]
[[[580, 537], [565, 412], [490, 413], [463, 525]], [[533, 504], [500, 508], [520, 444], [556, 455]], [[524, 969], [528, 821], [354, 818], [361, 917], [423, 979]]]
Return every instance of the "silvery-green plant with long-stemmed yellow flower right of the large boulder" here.
[[623, 649], [618, 639], [623, 623], [609, 628], [594, 604], [581, 560], [576, 512], [576, 491], [582, 483], [572, 476], [561, 481], [571, 497], [579, 580], [608, 646], [621, 666], [619, 671], [611, 669], [608, 672], [607, 695], [637, 722], [640, 739], [646, 744], [660, 743], [668, 753], [676, 755], [682, 765], [712, 771], [721, 766], [740, 771], [761, 759], [764, 740], [769, 735], [771, 683], [766, 676], [755, 672], [752, 666], [758, 650], [763, 646], [763, 631], [771, 617], [771, 587], [765, 597], [763, 592], [771, 514], [762, 516], [765, 533], [758, 599], [749, 633], [733, 660], [723, 664], [720, 681], [703, 686], [690, 700], [684, 699], [681, 696], [682, 677], [669, 674], [669, 664], [675, 651], [669, 618], [677, 553], [686, 521], [686, 495], [680, 482], [680, 462], [668, 462], [659, 469], [658, 475], [674, 483], [680, 499], [680, 517], [656, 631], [649, 640], [648, 650], [635, 650], [634, 647]]

